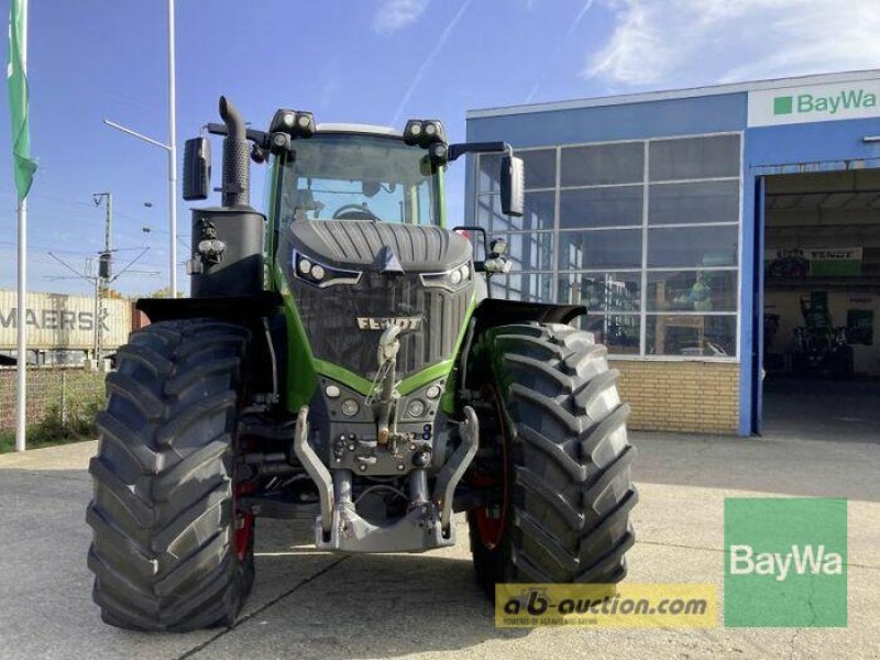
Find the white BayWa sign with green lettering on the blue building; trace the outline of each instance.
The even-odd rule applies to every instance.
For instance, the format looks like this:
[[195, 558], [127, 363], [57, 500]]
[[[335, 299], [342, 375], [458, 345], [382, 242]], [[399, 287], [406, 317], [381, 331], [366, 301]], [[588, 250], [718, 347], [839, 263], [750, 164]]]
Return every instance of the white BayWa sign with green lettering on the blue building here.
[[749, 127], [880, 117], [880, 80], [749, 92]]

